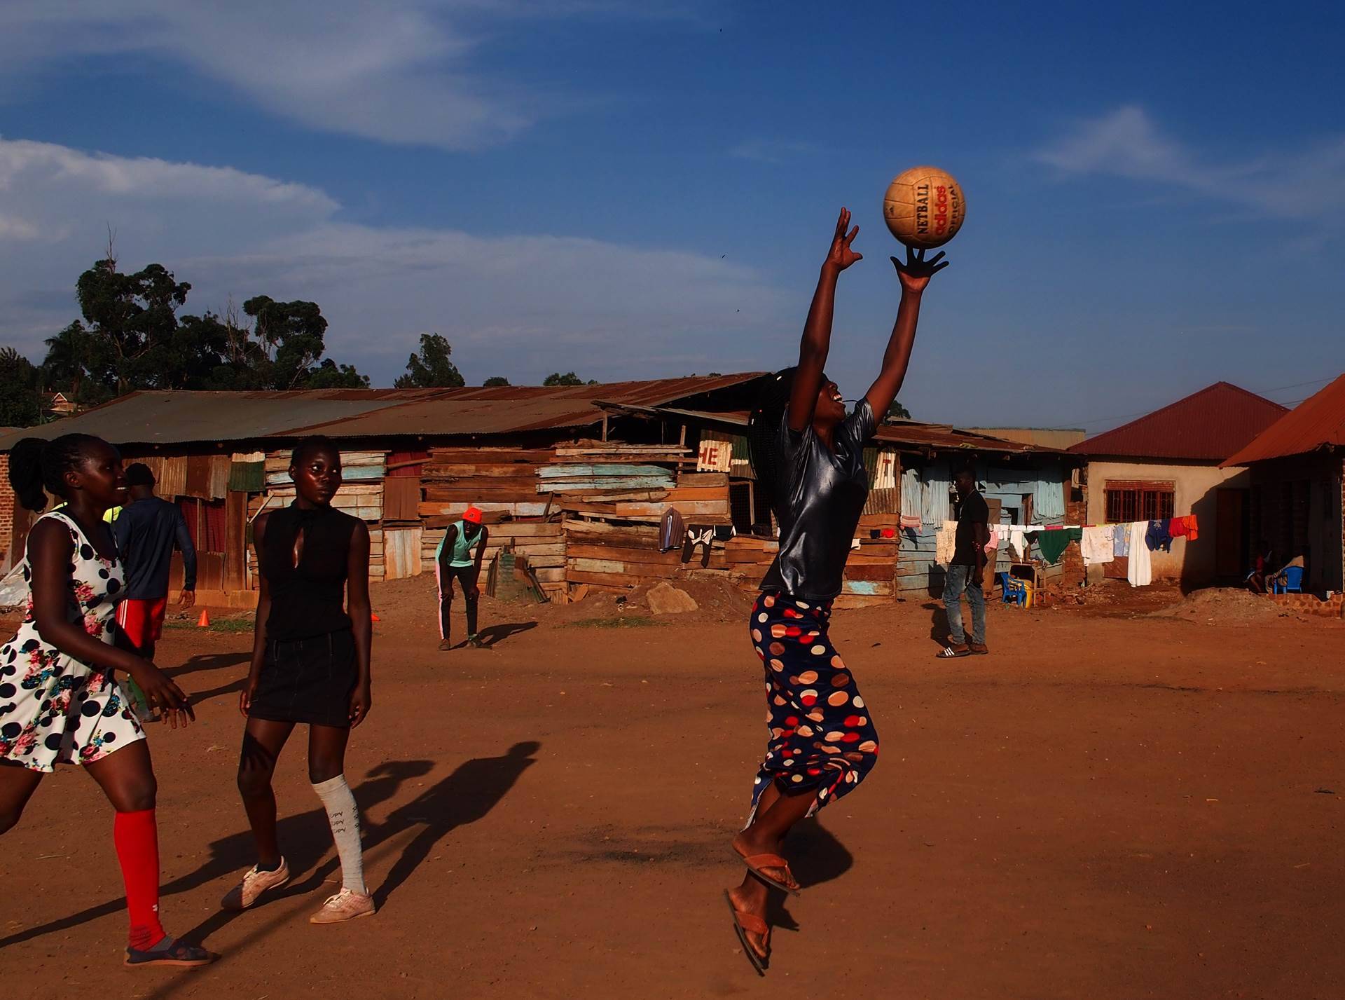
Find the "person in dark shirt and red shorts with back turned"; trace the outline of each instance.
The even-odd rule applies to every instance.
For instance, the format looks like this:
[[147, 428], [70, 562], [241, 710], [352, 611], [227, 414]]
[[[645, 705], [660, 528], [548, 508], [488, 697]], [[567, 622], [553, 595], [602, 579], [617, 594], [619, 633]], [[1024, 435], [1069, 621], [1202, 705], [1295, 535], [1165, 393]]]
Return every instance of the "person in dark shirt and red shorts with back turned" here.
[[130, 503], [112, 522], [126, 583], [117, 606], [117, 624], [126, 639], [147, 659], [155, 658], [155, 643], [163, 634], [168, 607], [168, 571], [174, 544], [182, 550], [182, 598], [179, 604], [196, 602], [196, 548], [187, 522], [175, 503], [155, 497], [155, 474], [143, 462], [126, 467]]

